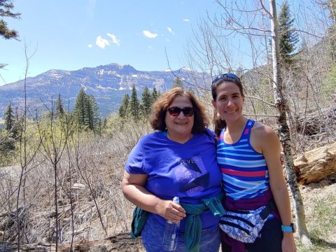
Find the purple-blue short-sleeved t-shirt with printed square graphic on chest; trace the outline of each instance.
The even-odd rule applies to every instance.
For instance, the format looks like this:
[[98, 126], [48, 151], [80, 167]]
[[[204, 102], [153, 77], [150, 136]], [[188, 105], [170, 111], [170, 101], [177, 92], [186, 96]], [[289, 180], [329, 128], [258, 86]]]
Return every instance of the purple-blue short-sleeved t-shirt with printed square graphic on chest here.
[[[221, 172], [216, 160], [214, 133], [194, 134], [185, 144], [153, 132], [140, 139], [127, 160], [130, 174], [147, 174], [146, 189], [154, 195], [180, 202], [197, 204], [221, 193]], [[155, 214], [161, 223], [165, 218]], [[202, 228], [213, 228], [219, 218], [210, 211], [201, 214]], [[184, 219], [181, 221], [184, 230]]]

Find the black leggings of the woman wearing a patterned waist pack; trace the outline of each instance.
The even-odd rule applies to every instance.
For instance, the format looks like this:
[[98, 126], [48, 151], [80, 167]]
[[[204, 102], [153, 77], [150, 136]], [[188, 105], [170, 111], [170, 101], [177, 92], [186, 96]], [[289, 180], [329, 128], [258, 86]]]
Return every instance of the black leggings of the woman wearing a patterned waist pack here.
[[[248, 252], [281, 252], [282, 238], [281, 223], [276, 218], [272, 218], [266, 221], [253, 244], [246, 243], [245, 248]], [[225, 244], [223, 240], [221, 244], [222, 252], [231, 252], [231, 246]]]

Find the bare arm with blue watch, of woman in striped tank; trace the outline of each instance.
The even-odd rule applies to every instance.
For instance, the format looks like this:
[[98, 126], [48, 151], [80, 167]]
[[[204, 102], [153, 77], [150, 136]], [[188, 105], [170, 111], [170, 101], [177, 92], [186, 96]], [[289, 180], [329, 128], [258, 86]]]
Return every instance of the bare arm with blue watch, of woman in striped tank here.
[[[269, 186], [279, 210], [282, 225], [290, 225], [292, 214], [286, 181], [281, 166], [281, 147], [279, 138], [271, 127], [260, 125], [255, 127], [253, 141], [258, 143], [267, 162]], [[253, 144], [253, 143], [251, 143]], [[283, 232], [282, 251], [296, 251], [293, 232]]]

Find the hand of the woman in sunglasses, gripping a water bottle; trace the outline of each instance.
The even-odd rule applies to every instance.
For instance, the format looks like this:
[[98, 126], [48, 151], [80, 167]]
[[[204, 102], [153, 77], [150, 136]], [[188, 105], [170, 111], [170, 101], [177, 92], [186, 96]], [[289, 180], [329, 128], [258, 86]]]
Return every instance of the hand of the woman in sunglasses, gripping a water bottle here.
[[186, 217], [186, 210], [172, 200], [159, 200], [155, 209], [160, 216], [168, 221], [178, 222]]

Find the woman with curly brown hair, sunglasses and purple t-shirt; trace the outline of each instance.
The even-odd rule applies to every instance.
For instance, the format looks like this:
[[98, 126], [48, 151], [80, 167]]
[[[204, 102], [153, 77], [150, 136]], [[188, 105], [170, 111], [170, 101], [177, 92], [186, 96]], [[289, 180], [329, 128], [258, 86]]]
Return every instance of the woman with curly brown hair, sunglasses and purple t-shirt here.
[[[155, 132], [133, 148], [122, 182], [125, 197], [149, 212], [141, 230], [146, 251], [163, 251], [169, 220], [181, 221], [176, 251], [218, 252], [221, 172], [204, 109], [175, 87], [153, 104], [150, 122]], [[172, 202], [175, 196], [181, 205]]]

